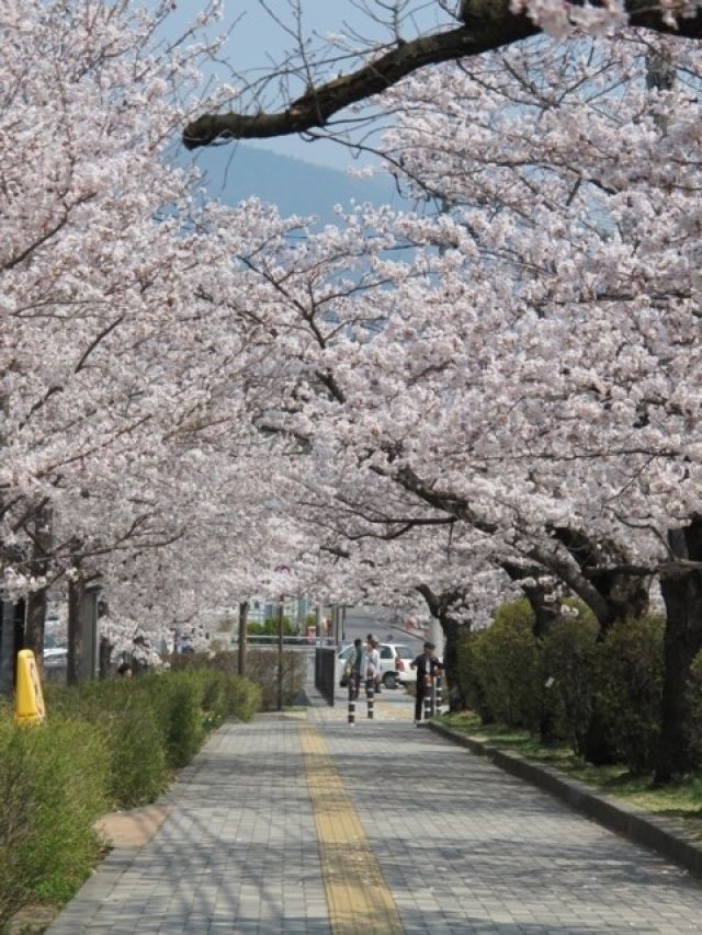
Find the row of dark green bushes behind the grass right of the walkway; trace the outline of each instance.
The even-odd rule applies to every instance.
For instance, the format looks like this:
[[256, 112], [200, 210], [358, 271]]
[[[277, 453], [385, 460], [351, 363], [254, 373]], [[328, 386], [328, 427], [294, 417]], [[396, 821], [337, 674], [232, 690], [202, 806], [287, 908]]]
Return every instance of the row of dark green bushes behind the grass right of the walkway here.
[[[458, 679], [484, 723], [548, 727], [550, 740], [586, 752], [597, 710], [598, 731], [632, 772], [650, 769], [660, 730], [663, 635], [657, 617], [626, 620], [599, 639], [592, 613], [564, 602], [570, 613], [542, 639], [533, 635], [525, 600], [498, 608], [492, 624], [458, 645]], [[573, 615], [577, 611], [577, 615]], [[697, 674], [695, 674], [697, 673]], [[702, 661], [691, 697], [702, 716]], [[702, 729], [691, 742], [702, 759]]]

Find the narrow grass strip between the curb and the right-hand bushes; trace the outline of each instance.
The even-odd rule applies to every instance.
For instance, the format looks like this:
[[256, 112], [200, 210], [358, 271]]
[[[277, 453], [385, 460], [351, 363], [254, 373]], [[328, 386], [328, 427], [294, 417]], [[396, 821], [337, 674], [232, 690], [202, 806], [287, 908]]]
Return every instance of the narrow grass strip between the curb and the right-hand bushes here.
[[525, 730], [500, 725], [482, 725], [473, 711], [443, 715], [440, 723], [460, 730], [483, 743], [528, 760], [553, 766], [567, 776], [608, 793], [642, 811], [670, 818], [702, 841], [702, 776], [693, 775], [666, 786], [657, 786], [653, 774], [632, 774], [625, 766], [593, 766], [567, 746], [545, 746]]

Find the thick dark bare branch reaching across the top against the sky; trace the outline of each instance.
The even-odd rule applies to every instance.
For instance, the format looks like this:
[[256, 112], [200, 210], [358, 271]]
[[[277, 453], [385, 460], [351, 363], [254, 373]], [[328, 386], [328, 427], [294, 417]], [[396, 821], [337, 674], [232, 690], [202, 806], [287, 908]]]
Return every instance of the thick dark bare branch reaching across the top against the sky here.
[[[574, 4], [575, 5], [575, 4]], [[681, 19], [676, 28], [646, 0], [630, 0], [634, 26], [689, 38], [702, 36], [702, 14]], [[464, 0], [464, 24], [457, 28], [403, 42], [362, 68], [312, 88], [285, 110], [256, 114], [203, 114], [183, 130], [188, 149], [224, 139], [262, 139], [324, 127], [346, 107], [366, 101], [429, 65], [456, 61], [511, 45], [540, 32], [524, 14], [510, 12], [509, 0]]]

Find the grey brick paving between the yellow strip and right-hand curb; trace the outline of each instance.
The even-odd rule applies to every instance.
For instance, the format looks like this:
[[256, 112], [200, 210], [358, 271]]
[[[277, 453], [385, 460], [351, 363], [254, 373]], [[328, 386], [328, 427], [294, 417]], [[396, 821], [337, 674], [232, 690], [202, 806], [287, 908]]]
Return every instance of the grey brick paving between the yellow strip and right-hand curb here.
[[324, 736], [408, 935], [702, 932], [687, 871], [432, 731]]

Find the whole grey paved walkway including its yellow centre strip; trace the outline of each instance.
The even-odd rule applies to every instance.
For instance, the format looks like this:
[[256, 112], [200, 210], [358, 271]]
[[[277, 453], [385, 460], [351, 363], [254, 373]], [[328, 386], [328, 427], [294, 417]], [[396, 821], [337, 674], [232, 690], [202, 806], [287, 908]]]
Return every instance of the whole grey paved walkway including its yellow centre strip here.
[[223, 727], [49, 935], [702, 932], [686, 871], [376, 706]]

